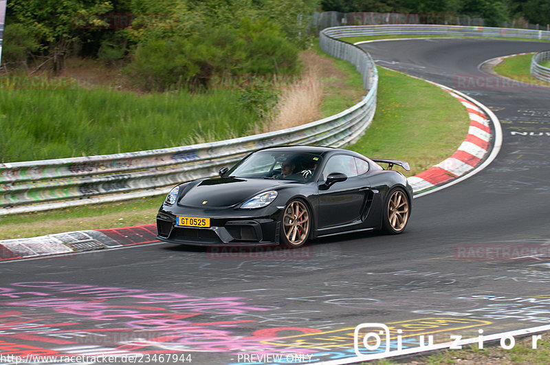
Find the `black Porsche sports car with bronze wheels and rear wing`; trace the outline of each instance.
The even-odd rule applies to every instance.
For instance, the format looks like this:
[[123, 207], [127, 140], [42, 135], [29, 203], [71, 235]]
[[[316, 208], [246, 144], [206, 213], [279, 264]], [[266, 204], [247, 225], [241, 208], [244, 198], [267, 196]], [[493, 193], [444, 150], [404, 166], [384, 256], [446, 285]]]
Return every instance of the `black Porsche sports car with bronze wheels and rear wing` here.
[[406, 162], [340, 148], [265, 148], [221, 168], [220, 177], [173, 188], [157, 214], [157, 238], [188, 245], [300, 247], [308, 239], [345, 232], [398, 234], [410, 217], [412, 188], [393, 165], [409, 169]]

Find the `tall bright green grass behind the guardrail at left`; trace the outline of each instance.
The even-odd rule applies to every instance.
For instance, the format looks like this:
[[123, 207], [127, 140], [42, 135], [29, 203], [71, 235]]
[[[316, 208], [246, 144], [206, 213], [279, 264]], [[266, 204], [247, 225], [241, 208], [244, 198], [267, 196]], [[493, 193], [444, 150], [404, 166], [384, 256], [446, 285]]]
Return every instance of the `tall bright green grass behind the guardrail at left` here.
[[[183, 146], [247, 135], [257, 116], [241, 91], [135, 93], [76, 82], [0, 82], [0, 162]], [[200, 140], [199, 138], [199, 140]]]

